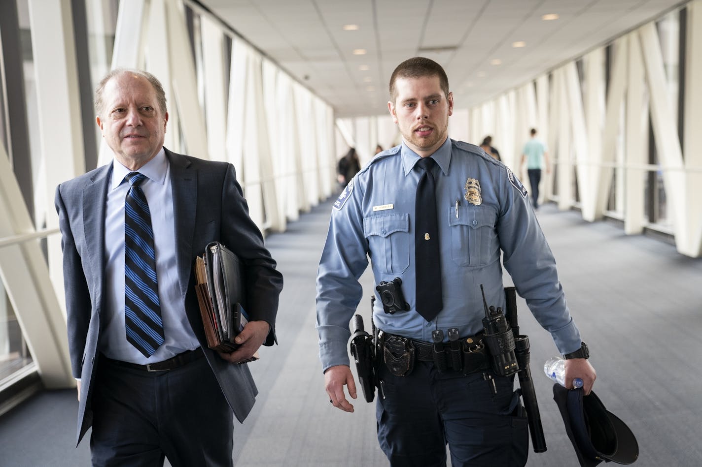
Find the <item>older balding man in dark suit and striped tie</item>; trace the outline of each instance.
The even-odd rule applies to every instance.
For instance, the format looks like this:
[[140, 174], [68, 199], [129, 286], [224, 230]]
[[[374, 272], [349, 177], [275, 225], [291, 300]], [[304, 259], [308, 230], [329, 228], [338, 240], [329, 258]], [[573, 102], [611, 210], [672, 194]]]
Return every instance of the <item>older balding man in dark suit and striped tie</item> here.
[[[230, 466], [234, 415], [258, 393], [246, 363], [275, 341], [281, 274], [249, 217], [231, 164], [163, 147], [168, 112], [151, 74], [110, 72], [96, 121], [114, 153], [60, 184], [77, 442], [95, 466]], [[251, 320], [233, 353], [207, 348], [193, 263], [212, 241], [245, 265]]]

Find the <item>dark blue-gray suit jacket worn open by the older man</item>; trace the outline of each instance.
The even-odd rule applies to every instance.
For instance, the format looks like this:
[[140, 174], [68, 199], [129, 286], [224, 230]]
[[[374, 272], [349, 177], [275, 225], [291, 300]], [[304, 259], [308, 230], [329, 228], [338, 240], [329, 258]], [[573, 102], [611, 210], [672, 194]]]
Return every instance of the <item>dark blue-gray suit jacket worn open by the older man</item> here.
[[[187, 318], [234, 415], [244, 421], [258, 389], [246, 365], [228, 363], [207, 347], [194, 292], [194, 259], [212, 241], [222, 242], [239, 256], [246, 265], [247, 311], [251, 320], [270, 324], [265, 341], [269, 346], [276, 341], [274, 325], [283, 278], [249, 217], [234, 167], [165, 151], [171, 165], [176, 264]], [[106, 286], [105, 204], [111, 172], [112, 163], [104, 165], [60, 184], [55, 195], [62, 234], [69, 351], [73, 376], [81, 378], [77, 442], [93, 423], [91, 389], [99, 364]]]

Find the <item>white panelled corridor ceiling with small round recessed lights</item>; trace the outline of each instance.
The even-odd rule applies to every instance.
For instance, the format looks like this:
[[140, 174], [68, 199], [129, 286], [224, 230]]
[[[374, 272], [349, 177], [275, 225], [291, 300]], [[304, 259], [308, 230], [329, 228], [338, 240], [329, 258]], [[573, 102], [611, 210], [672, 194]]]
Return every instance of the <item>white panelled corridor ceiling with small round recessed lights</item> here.
[[[439, 62], [470, 107], [680, 6], [680, 0], [200, 0], [329, 102], [336, 116], [385, 114], [395, 67]], [[542, 20], [547, 13], [559, 18]], [[344, 25], [358, 25], [345, 31]], [[524, 41], [523, 48], [513, 48]], [[366, 55], [354, 55], [355, 49]], [[500, 65], [492, 65], [500, 60]], [[362, 70], [362, 65], [367, 70]]]

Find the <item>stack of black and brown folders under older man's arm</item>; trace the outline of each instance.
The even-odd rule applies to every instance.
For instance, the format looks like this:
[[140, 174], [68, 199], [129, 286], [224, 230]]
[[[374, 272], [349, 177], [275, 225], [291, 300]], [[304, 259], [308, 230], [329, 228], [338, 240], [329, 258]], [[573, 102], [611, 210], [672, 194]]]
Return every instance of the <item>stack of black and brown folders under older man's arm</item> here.
[[200, 305], [207, 346], [230, 353], [237, 348], [234, 337], [249, 323], [244, 307], [243, 265], [224, 245], [207, 245], [195, 259], [195, 292]]

